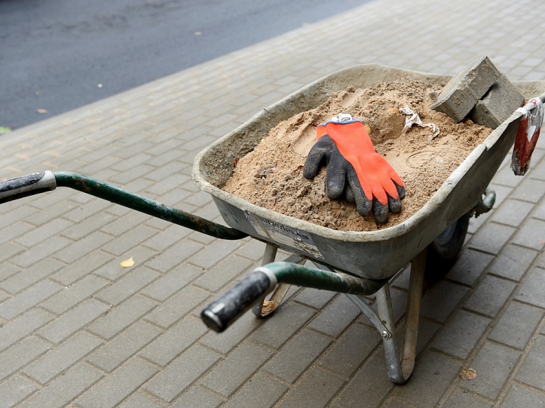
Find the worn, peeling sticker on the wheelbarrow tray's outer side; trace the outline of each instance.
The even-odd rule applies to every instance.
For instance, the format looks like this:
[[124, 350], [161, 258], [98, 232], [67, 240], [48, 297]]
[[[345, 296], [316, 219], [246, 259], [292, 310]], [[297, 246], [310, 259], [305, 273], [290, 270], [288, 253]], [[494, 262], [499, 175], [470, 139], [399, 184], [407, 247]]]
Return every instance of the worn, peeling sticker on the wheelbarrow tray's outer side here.
[[246, 214], [246, 218], [251, 222], [253, 228], [255, 228], [255, 232], [260, 236], [269, 238], [272, 242], [283, 243], [292, 248], [302, 250], [314, 256], [314, 258], [324, 258], [316, 245], [314, 245], [314, 241], [312, 241], [309, 233], [279, 224], [262, 216], [251, 214], [248, 211], [244, 211], [244, 214]]

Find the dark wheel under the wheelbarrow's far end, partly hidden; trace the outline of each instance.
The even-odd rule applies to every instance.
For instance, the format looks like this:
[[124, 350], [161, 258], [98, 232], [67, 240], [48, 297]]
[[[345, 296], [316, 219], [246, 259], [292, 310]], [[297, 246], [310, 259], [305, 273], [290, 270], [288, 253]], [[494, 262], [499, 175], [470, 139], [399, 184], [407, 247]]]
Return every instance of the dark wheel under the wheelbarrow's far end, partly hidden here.
[[464, 214], [429, 244], [426, 277], [441, 277], [456, 263], [466, 240], [470, 218], [469, 212]]

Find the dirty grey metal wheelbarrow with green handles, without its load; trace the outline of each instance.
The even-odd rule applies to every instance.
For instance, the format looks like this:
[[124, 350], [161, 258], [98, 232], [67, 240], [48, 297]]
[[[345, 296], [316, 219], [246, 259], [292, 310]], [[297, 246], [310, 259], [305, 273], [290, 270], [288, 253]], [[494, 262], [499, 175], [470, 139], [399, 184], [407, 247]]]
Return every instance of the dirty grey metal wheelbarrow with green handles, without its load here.
[[[513, 145], [523, 114], [514, 112], [492, 131], [416, 214], [380, 231], [335, 231], [263, 209], [221, 189], [231, 177], [236, 158], [253, 150], [280, 121], [314, 109], [332, 92], [348, 86], [366, 88], [402, 77], [430, 85], [450, 79], [382, 65], [334, 72], [263, 109], [199, 153], [192, 178], [197, 187], [211, 194], [228, 226], [72, 172], [47, 170], [0, 182], [0, 204], [56, 187], [70, 187], [216, 238], [251, 236], [266, 244], [262, 266], [202, 311], [207, 326], [224, 331], [248, 309], [256, 316], [268, 316], [277, 309], [290, 285], [341, 292], [379, 331], [387, 375], [392, 382], [402, 384], [411, 375], [416, 358], [424, 272], [441, 275], [448, 270], [463, 246], [470, 217], [492, 208], [495, 192], [488, 184]], [[545, 92], [545, 82], [514, 85], [526, 99]], [[279, 248], [291, 254], [283, 262], [275, 262]], [[314, 266], [304, 265], [307, 261]], [[388, 282], [408, 263], [409, 296], [402, 346], [398, 349]], [[366, 298], [372, 294], [377, 311]]]

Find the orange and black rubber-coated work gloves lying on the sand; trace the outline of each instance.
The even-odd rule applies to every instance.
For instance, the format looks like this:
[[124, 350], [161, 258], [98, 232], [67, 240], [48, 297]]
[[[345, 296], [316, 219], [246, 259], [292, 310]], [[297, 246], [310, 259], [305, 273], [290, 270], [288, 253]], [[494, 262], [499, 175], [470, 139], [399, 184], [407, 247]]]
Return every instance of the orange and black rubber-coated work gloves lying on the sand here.
[[356, 202], [361, 216], [373, 211], [378, 224], [388, 221], [389, 211], [398, 214], [405, 188], [401, 177], [373, 147], [365, 126], [351, 115], [316, 128], [318, 141], [304, 163], [303, 176], [312, 180], [325, 164], [326, 194], [329, 199], [346, 197]]

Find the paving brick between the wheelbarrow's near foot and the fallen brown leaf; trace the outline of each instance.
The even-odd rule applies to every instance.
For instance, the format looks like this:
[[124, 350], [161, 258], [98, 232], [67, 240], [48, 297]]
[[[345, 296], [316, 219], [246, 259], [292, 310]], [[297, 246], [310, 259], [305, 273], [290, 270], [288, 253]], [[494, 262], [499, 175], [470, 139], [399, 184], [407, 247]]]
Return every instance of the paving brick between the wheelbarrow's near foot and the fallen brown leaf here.
[[411, 375], [411, 386], [397, 388], [395, 395], [414, 407], [434, 407], [459, 368], [457, 361], [426, 351]]

